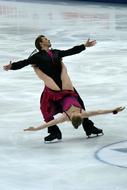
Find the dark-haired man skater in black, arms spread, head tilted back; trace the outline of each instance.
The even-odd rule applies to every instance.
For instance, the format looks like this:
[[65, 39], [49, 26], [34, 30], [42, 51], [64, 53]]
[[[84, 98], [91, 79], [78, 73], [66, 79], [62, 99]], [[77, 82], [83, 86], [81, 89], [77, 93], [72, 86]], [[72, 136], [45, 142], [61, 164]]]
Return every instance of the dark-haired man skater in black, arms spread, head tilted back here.
[[[13, 62], [13, 63], [10, 62], [10, 64], [4, 66], [4, 70], [6, 70], [6, 71], [17, 70], [17, 69], [21, 69], [27, 65], [34, 65], [34, 66], [38, 67], [47, 76], [49, 76], [51, 79], [53, 79], [53, 81], [62, 90], [62, 81], [61, 81], [61, 70], [62, 70], [61, 59], [62, 59], [62, 57], [80, 53], [81, 51], [85, 50], [86, 47], [92, 47], [95, 44], [96, 44], [95, 40], [90, 41], [88, 39], [86, 43], [79, 45], [79, 46], [74, 46], [71, 49], [56, 50], [56, 49], [50, 49], [50, 47], [51, 47], [50, 40], [48, 40], [45, 36], [40, 35], [35, 40], [35, 46], [39, 50], [39, 52], [33, 54], [28, 59], [21, 60], [18, 62]], [[42, 96], [41, 96], [41, 105], [44, 105], [42, 103], [42, 101], [45, 102], [45, 99], [47, 98], [47, 96], [46, 96], [47, 93], [48, 92], [46, 91], [46, 88], [45, 88], [42, 93]], [[49, 95], [49, 94], [47, 94], [47, 95]], [[79, 99], [80, 104], [82, 104], [82, 107], [84, 107], [83, 101], [81, 100], [80, 96], [78, 96], [78, 99]], [[43, 112], [42, 109], [41, 109], [41, 111], [42, 111], [42, 114], [44, 115], [45, 113]], [[52, 118], [50, 118], [50, 120], [51, 119]], [[91, 134], [102, 133], [102, 130], [96, 128], [94, 126], [93, 122], [91, 120], [89, 120], [88, 118], [85, 118], [83, 120], [82, 124], [83, 124], [84, 130], [86, 131], [87, 136], [89, 136]], [[45, 141], [52, 141], [54, 139], [62, 138], [62, 134], [57, 125], [49, 127], [48, 133], [50, 133], [50, 134], [47, 137], [45, 137]]]

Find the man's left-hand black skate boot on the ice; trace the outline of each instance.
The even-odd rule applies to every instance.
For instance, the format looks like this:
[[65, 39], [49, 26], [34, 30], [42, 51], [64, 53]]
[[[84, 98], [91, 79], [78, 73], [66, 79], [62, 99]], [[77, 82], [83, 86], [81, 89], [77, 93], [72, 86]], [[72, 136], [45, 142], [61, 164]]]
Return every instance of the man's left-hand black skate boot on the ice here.
[[47, 137], [44, 138], [45, 143], [50, 143], [53, 142], [54, 140], [61, 140], [62, 139], [62, 134], [61, 132], [56, 133], [56, 134], [50, 134]]

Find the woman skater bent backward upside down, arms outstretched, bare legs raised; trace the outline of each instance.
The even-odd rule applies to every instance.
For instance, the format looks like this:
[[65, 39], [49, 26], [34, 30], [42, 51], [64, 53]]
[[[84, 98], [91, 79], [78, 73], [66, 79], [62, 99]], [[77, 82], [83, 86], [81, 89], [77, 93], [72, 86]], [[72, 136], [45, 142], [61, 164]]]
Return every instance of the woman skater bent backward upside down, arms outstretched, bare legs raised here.
[[[78, 102], [78, 95], [75, 93], [73, 89], [73, 85], [70, 81], [69, 76], [67, 75], [67, 69], [63, 63], [62, 63], [62, 73], [61, 73], [61, 80], [63, 84], [62, 91], [59, 91], [58, 89], [59, 87], [54, 83], [54, 81], [49, 80], [49, 78], [47, 78], [47, 76], [44, 75], [44, 73], [42, 73], [40, 69], [35, 67], [34, 70], [38, 75], [38, 77], [43, 81], [45, 81], [45, 84], [47, 85], [46, 87], [47, 90], [50, 90], [51, 86], [55, 88], [55, 91], [53, 90], [52, 92], [50, 91], [49, 92], [52, 94], [54, 99], [56, 99], [55, 103], [56, 104], [59, 103], [61, 105], [63, 113], [60, 117], [55, 118], [49, 122], [46, 122], [39, 127], [29, 127], [27, 129], [24, 129], [24, 131], [37, 131], [65, 121], [71, 121], [74, 128], [77, 129], [78, 126], [82, 123], [83, 118], [88, 118], [91, 116], [102, 115], [102, 114], [109, 114], [109, 113], [117, 114], [118, 112], [121, 112], [125, 109], [125, 107], [117, 107], [115, 109], [85, 111]], [[56, 97], [59, 98], [57, 99]], [[53, 109], [53, 113], [55, 115], [55, 109]], [[56, 113], [58, 112], [56, 111]]]

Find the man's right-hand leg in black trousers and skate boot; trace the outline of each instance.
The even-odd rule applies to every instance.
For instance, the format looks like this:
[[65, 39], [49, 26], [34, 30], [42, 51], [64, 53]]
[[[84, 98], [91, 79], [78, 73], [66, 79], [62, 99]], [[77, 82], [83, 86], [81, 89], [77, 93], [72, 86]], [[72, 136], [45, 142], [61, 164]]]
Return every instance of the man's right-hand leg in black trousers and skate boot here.
[[[74, 90], [75, 90], [75, 92], [78, 94], [78, 92], [76, 91], [76, 89], [74, 89]], [[84, 103], [83, 103], [81, 97], [79, 96], [79, 94], [78, 94], [78, 101], [79, 101], [79, 103], [81, 104], [82, 108], [85, 110]], [[83, 119], [82, 126], [83, 126], [83, 129], [84, 129], [84, 131], [86, 132], [86, 135], [87, 135], [88, 137], [89, 137], [91, 134], [96, 134], [96, 135], [101, 134], [101, 133], [103, 134], [103, 130], [102, 130], [102, 129], [99, 129], [99, 128], [96, 128], [96, 127], [94, 126], [94, 123], [93, 123], [91, 120], [89, 120], [89, 118], [84, 118], [84, 119]]]

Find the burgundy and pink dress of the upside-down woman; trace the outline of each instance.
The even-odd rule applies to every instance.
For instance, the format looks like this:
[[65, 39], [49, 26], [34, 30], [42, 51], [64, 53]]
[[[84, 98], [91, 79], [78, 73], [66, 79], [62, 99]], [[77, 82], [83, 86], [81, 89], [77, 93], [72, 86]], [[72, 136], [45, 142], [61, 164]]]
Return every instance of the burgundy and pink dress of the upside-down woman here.
[[54, 91], [45, 86], [40, 101], [44, 120], [46, 122], [52, 120], [54, 115], [68, 110], [71, 105], [81, 108], [77, 97], [78, 95], [72, 90]]

